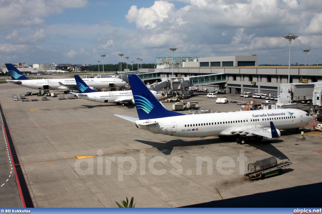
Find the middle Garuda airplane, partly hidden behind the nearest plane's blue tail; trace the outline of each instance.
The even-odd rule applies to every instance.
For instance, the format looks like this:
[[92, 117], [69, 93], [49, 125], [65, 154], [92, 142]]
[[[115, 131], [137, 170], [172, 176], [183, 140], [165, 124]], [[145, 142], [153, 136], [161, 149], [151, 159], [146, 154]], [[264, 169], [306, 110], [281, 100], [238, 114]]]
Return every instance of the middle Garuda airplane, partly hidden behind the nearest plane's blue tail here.
[[[96, 91], [90, 89], [87, 84], [80, 78], [78, 75], [74, 75], [76, 84], [78, 87], [78, 92], [71, 92], [72, 94], [76, 94], [78, 98], [94, 101], [94, 102], [101, 102], [101, 103], [116, 103], [122, 106], [125, 103], [133, 104], [135, 103], [132, 91]], [[157, 98], [161, 98], [162, 95], [156, 91], [151, 91], [151, 93]]]

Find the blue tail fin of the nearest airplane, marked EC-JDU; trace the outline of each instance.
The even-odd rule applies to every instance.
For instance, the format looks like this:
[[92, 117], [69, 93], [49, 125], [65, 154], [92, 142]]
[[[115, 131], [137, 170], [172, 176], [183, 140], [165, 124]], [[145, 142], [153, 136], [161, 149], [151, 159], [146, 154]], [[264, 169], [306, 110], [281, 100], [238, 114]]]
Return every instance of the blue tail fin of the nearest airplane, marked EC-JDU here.
[[166, 109], [136, 74], [128, 75], [128, 80], [140, 120], [184, 115]]

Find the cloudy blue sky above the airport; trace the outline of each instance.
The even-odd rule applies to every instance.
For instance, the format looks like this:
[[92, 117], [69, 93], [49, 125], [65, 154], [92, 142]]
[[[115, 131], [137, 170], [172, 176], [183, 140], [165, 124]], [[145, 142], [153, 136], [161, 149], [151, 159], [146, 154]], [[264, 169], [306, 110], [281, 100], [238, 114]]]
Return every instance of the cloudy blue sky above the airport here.
[[0, 59], [116, 64], [155, 57], [259, 56], [259, 64], [322, 63], [320, 0], [0, 0]]

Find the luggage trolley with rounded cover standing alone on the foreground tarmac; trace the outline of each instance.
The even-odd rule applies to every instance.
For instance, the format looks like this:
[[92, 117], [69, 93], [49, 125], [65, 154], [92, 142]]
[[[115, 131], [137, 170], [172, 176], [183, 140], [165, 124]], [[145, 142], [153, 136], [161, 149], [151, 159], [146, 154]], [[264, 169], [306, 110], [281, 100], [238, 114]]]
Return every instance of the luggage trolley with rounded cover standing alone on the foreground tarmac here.
[[248, 173], [244, 174], [243, 178], [247, 180], [265, 179], [273, 175], [281, 175], [284, 168], [291, 165], [289, 159], [282, 159], [276, 157], [269, 157], [255, 163], [248, 164]]

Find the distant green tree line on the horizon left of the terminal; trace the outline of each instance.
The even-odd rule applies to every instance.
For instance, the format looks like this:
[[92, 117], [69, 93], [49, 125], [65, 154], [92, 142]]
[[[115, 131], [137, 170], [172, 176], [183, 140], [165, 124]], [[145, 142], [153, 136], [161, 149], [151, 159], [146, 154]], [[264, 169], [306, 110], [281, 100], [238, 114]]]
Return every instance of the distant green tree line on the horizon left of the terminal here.
[[[155, 64], [142, 64], [142, 68], [154, 68]], [[139, 63], [139, 69], [141, 68], [141, 64]], [[105, 64], [104, 65], [104, 72], [105, 71], [118, 71], [120, 69], [120, 63], [118, 64]], [[122, 70], [124, 71], [126, 69], [126, 62], [122, 62]], [[132, 64], [128, 64], [128, 69], [132, 71]], [[103, 65], [91, 65], [88, 69], [86, 70], [103, 70]], [[137, 64], [133, 63], [133, 70], [138, 70]]]

